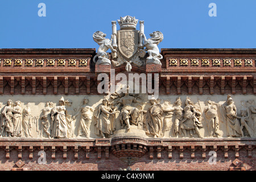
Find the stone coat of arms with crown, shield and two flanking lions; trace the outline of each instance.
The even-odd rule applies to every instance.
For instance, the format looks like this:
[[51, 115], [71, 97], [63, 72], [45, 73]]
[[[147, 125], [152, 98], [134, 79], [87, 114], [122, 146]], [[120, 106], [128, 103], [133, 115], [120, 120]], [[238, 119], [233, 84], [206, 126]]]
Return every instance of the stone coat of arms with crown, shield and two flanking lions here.
[[[111, 39], [106, 34], [97, 31], [93, 39], [99, 44], [97, 55], [93, 58], [96, 64], [113, 64], [115, 67], [126, 64], [126, 71], [131, 71], [131, 64], [141, 67], [143, 64], [161, 64], [163, 59], [159, 53], [158, 44], [163, 40], [163, 34], [155, 31], [147, 39], [144, 35], [144, 21], [139, 21], [140, 30], [136, 30], [138, 19], [132, 16], [121, 17], [118, 20], [120, 30], [117, 31], [117, 22], [112, 21]], [[97, 39], [96, 39], [97, 38]], [[108, 51], [112, 51], [112, 60], [109, 60]], [[148, 53], [148, 57], [146, 56]], [[96, 61], [97, 60], [97, 61]]]

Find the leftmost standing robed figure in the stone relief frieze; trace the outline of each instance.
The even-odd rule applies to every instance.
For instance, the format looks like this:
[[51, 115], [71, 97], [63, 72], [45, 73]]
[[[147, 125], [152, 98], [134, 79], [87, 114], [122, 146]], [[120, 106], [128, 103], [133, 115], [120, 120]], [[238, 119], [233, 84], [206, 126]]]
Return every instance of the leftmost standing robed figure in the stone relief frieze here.
[[8, 100], [2, 111], [1, 137], [13, 137], [13, 101]]

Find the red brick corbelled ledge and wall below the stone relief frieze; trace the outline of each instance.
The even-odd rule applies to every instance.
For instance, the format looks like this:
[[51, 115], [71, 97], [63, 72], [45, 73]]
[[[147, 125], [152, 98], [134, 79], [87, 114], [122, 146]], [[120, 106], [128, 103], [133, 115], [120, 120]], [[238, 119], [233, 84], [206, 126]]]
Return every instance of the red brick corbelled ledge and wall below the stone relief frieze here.
[[[253, 143], [253, 144], [252, 144]], [[222, 169], [221, 166], [226, 166], [223, 169], [228, 170], [232, 167], [234, 159], [239, 159], [243, 166], [249, 163], [252, 154], [255, 153], [255, 139], [253, 138], [174, 138], [174, 139], [144, 139], [134, 137], [121, 137], [113, 139], [0, 139], [0, 148], [4, 149], [6, 156], [2, 156], [1, 160], [10, 159], [16, 162], [18, 159], [24, 162], [25, 168], [31, 170], [33, 168], [48, 170], [61, 169], [60, 166], [55, 166], [53, 161], [69, 161], [77, 160], [75, 163], [69, 163], [69, 167], [73, 169], [85, 169], [92, 167], [92, 162], [100, 162], [104, 160], [106, 166], [110, 164], [110, 168], [115, 169], [115, 166], [125, 166], [122, 162], [123, 158], [141, 159], [139, 163], [141, 169], [148, 166], [147, 160], [160, 162], [164, 160], [169, 165], [168, 169], [173, 168], [172, 160], [178, 160], [181, 163], [183, 160], [203, 160], [200, 164], [207, 166], [208, 169]], [[1, 152], [0, 150], [0, 152]], [[46, 164], [38, 164], [38, 152], [46, 152]], [[215, 151], [217, 154], [217, 164], [209, 165], [209, 152]], [[18, 155], [14, 155], [18, 154]], [[248, 158], [248, 159], [247, 159]], [[207, 159], [207, 160], [205, 160]], [[35, 160], [34, 163], [31, 163]], [[79, 167], [79, 161], [87, 161], [83, 163], [83, 167]], [[31, 162], [30, 162], [31, 161]], [[222, 162], [221, 162], [222, 161]], [[182, 164], [182, 163], [181, 163]], [[131, 167], [137, 163], [131, 163]], [[182, 164], [183, 165], [183, 164]], [[144, 166], [144, 167], [143, 167]], [[156, 165], [157, 166], [157, 165]], [[0, 165], [1, 167], [1, 165]], [[12, 167], [12, 166], [11, 166]], [[10, 169], [11, 169], [10, 167]], [[149, 166], [148, 166], [149, 167]], [[197, 165], [195, 169], [203, 169], [202, 165]], [[161, 168], [161, 167], [160, 167]], [[159, 168], [159, 169], [160, 169]], [[99, 168], [91, 168], [99, 169]], [[116, 168], [117, 169], [117, 168]], [[153, 168], [148, 168], [154, 170]], [[155, 168], [157, 169], [157, 168]], [[162, 168], [164, 169], [164, 168]], [[185, 167], [184, 167], [185, 169]], [[253, 166], [247, 166], [245, 169], [254, 169]]]

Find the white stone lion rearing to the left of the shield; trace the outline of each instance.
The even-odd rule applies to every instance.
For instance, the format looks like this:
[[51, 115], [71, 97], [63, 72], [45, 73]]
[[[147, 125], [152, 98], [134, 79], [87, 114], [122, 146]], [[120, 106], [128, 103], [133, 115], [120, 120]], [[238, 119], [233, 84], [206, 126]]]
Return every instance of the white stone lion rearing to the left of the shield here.
[[97, 55], [93, 57], [93, 62], [96, 63], [96, 58], [98, 57], [98, 61], [96, 64], [111, 64], [111, 61], [109, 60], [108, 49], [111, 49], [112, 52], [117, 52], [112, 47], [112, 38], [113, 35], [111, 36], [111, 39], [106, 39], [106, 34], [104, 34], [101, 31], [94, 32], [93, 34], [93, 40], [100, 46], [97, 51]]

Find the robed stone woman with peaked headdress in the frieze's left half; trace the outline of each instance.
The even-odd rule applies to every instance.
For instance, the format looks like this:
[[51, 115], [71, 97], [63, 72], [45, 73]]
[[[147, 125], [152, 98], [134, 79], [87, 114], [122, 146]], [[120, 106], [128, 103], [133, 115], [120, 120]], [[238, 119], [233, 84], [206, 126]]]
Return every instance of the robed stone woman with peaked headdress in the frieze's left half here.
[[52, 119], [52, 137], [68, 138], [68, 127], [66, 120], [66, 107], [63, 97], [59, 100], [59, 106], [53, 107], [51, 110]]

